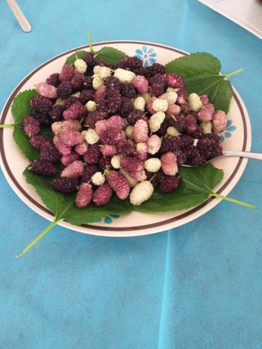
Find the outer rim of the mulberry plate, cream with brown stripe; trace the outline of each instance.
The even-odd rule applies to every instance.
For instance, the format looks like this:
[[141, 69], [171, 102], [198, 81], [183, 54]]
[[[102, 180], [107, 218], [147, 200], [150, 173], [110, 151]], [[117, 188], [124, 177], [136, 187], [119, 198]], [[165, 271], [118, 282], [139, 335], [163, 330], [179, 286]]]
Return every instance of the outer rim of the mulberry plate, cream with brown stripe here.
[[[177, 49], [176, 47], [168, 46], [168, 45], [162, 45], [159, 43], [152, 43], [149, 41], [140, 41], [140, 40], [110, 40], [110, 41], [103, 41], [99, 43], [94, 43], [93, 46], [97, 45], [110, 45], [110, 44], [129, 44], [129, 43], [137, 43], [137, 44], [142, 44], [142, 45], [154, 45], [155, 47], [161, 47], [163, 49], [168, 49], [173, 52], [177, 52], [179, 54], [184, 54], [184, 55], [189, 55], [188, 52], [184, 50]], [[11, 104], [13, 103], [13, 99], [19, 93], [20, 89], [23, 87], [23, 85], [41, 68], [44, 68], [46, 65], [50, 64], [52, 61], [55, 61], [56, 59], [65, 56], [66, 54], [70, 54], [71, 52], [75, 52], [77, 50], [81, 50], [84, 48], [88, 48], [89, 45], [82, 45], [79, 47], [75, 47], [71, 50], [66, 50], [65, 52], [61, 52], [60, 54], [57, 54], [56, 56], [52, 57], [51, 59], [48, 59], [47, 61], [43, 62], [31, 72], [29, 72], [13, 89], [13, 91], [10, 93], [10, 95], [7, 98], [6, 103], [3, 105], [3, 109], [1, 111], [1, 123], [3, 123], [6, 119], [6, 116], [8, 114], [8, 110], [10, 109]], [[249, 120], [249, 115], [247, 113], [246, 107], [244, 102], [242, 101], [242, 98], [238, 94], [238, 91], [235, 90], [233, 87], [233, 98], [235, 99], [235, 102], [238, 104], [238, 107], [240, 109], [240, 113], [242, 115], [242, 121], [244, 124], [244, 134], [245, 134], [245, 139], [243, 142], [242, 149], [249, 151], [251, 149], [251, 142], [252, 142], [252, 130], [251, 130], [251, 125], [250, 125], [250, 120]], [[10, 168], [8, 166], [8, 161], [6, 160], [5, 156], [5, 151], [4, 151], [4, 145], [3, 145], [3, 131], [4, 129], [1, 128], [0, 130], [0, 154], [1, 154], [1, 168], [3, 170], [3, 174], [6, 177], [6, 180], [8, 181], [8, 184], [13, 188], [13, 191], [18, 195], [18, 197], [31, 209], [36, 211], [36, 213], [40, 214], [44, 218], [48, 219], [49, 221], [52, 221], [54, 218], [54, 215], [52, 214], [51, 211], [49, 211], [46, 207], [41, 205], [39, 202], [36, 202], [31, 196], [24, 191], [24, 188], [18, 184], [17, 179], [13, 175], [13, 173], [10, 171]], [[224, 183], [221, 188], [219, 188], [219, 191], [217, 193], [223, 193], [226, 191], [229, 193], [233, 187], [238, 183], [240, 177], [242, 176], [242, 173], [245, 170], [245, 167], [247, 165], [247, 159], [240, 158], [237, 165], [235, 166], [235, 169], [233, 170], [233, 173], [231, 176], [228, 178], [226, 183]], [[10, 175], [11, 174], [11, 175]], [[234, 178], [235, 176], [238, 175], [238, 179]], [[13, 178], [12, 178], [13, 177]], [[228, 191], [226, 190], [228, 189]], [[226, 194], [227, 194], [226, 193]], [[152, 233], [156, 233], [159, 231], [164, 231], [169, 228], [165, 228], [168, 225], [174, 224], [178, 220], [183, 220], [184, 218], [187, 218], [186, 222], [178, 222], [178, 224], [175, 224], [175, 227], [177, 228], [180, 225], [183, 225], [184, 223], [189, 223], [190, 221], [198, 218], [199, 216], [202, 216], [205, 214], [207, 211], [210, 211], [214, 206], [216, 206], [221, 200], [217, 198], [210, 198], [207, 201], [203, 202], [201, 205], [198, 205], [196, 207], [192, 207], [189, 211], [184, 212], [183, 214], [180, 214], [179, 216], [168, 218], [165, 221], [160, 221], [157, 223], [152, 223], [148, 225], [137, 225], [135, 227], [103, 227], [99, 225], [93, 225], [93, 224], [83, 224], [83, 225], [73, 225], [71, 223], [68, 223], [66, 221], [62, 221], [59, 223], [59, 225], [63, 226], [64, 228], [69, 228], [73, 231], [77, 232], [84, 232], [87, 234], [92, 234], [92, 235], [100, 235], [100, 236], [108, 236], [108, 237], [131, 237], [131, 236], [136, 236], [136, 235], [148, 235]], [[209, 204], [212, 205], [209, 205]], [[209, 206], [208, 206], [209, 205]], [[208, 207], [207, 207], [208, 206]], [[202, 208], [205, 208], [204, 211], [201, 211]], [[192, 214], [194, 214], [196, 211], [200, 211], [200, 214], [197, 216], [190, 217]], [[143, 213], [143, 212], [142, 212]], [[84, 231], [83, 228], [89, 229], [89, 231]], [[152, 230], [153, 229], [153, 230]], [[164, 230], [163, 230], [164, 229]], [[93, 230], [93, 231], [92, 231]], [[140, 233], [137, 233], [140, 230]], [[150, 230], [150, 231], [148, 231]], [[151, 231], [152, 230], [152, 231]], [[116, 233], [119, 232], [124, 232], [124, 235], [118, 235]], [[108, 234], [109, 233], [109, 234]]]

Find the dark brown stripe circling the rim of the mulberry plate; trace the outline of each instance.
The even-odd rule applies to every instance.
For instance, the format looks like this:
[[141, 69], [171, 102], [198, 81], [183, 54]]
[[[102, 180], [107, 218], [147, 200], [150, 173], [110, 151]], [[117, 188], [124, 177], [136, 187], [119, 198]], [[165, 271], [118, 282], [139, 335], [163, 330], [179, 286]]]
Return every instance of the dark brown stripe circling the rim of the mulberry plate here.
[[[141, 42], [141, 41], [125, 41], [125, 40], [122, 40], [122, 41], [121, 40], [120, 41], [105, 41], [105, 42], [102, 42], [102, 43], [95, 43], [95, 44], [93, 44], [93, 46], [105, 45], [105, 44], [114, 44], [114, 43], [135, 43], [135, 44], [138, 44], [138, 45], [154, 45], [155, 47], [161, 47], [161, 48], [163, 48], [165, 50], [170, 50], [170, 51], [173, 51], [173, 52], [177, 52], [179, 54], [183, 54], [184, 56], [188, 55], [186, 52], [182, 52], [180, 50], [176, 50], [173, 47], [168, 47], [168, 46], [164, 46], [164, 45], [160, 45], [160, 44], [154, 44], [154, 43], [144, 43], [144, 42]], [[64, 53], [61, 53], [61, 54], [57, 55], [56, 57], [53, 57], [52, 59], [49, 59], [45, 63], [41, 64], [41, 66], [38, 66], [38, 68], [34, 69], [31, 73], [29, 73], [29, 75], [27, 75], [27, 77], [25, 77], [24, 80], [22, 80], [20, 82], [20, 84], [17, 85], [17, 87], [15, 88], [15, 90], [13, 91], [11, 96], [8, 98], [8, 101], [7, 101], [6, 105], [5, 105], [5, 107], [3, 108], [2, 117], [1, 117], [1, 124], [4, 124], [4, 122], [6, 121], [6, 116], [7, 116], [8, 110], [10, 108], [10, 105], [13, 102], [13, 99], [17, 95], [17, 92], [20, 91], [22, 86], [25, 84], [25, 82], [27, 82], [30, 79], [30, 77], [32, 77], [38, 70], [40, 70], [44, 66], [50, 64], [52, 61], [55, 61], [56, 59], [65, 56], [66, 54], [69, 54], [71, 52], [75, 52], [75, 51], [83, 49], [85, 47], [89, 47], [89, 45], [76, 47], [73, 50], [69, 50], [69, 51], [66, 51]], [[246, 123], [246, 120], [245, 120], [245, 114], [244, 114], [244, 110], [242, 108], [242, 105], [241, 105], [241, 103], [240, 103], [240, 101], [238, 99], [238, 96], [236, 96], [234, 91], [233, 91], [233, 98], [235, 98], [235, 101], [238, 104], [238, 107], [240, 109], [240, 113], [241, 113], [241, 116], [242, 116], [242, 121], [243, 121], [243, 126], [244, 126], [244, 142], [243, 142], [242, 151], [245, 151], [246, 150], [246, 146], [247, 146], [247, 123]], [[10, 177], [10, 179], [12, 179], [13, 184], [15, 184], [17, 189], [32, 204], [34, 204], [36, 207], [38, 207], [38, 209], [41, 209], [42, 211], [44, 211], [47, 214], [50, 214], [51, 216], [54, 216], [54, 214], [51, 211], [49, 211], [46, 207], [42, 206], [41, 204], [39, 204], [39, 202], [37, 202], [36, 200], [31, 198], [31, 196], [27, 193], [27, 191], [25, 191], [24, 188], [22, 188], [22, 186], [20, 186], [20, 184], [18, 183], [17, 179], [15, 179], [15, 176], [13, 175], [13, 172], [11, 172], [10, 167], [8, 165], [8, 161], [6, 159], [6, 153], [5, 153], [4, 145], [3, 145], [3, 128], [0, 129], [0, 153], [1, 153], [1, 157], [2, 157], [2, 160], [3, 160], [3, 165], [4, 165], [5, 169], [6, 169], [6, 172], [8, 173], [8, 176]], [[242, 158], [239, 159], [237, 165], [235, 166], [235, 169], [233, 170], [233, 173], [228, 178], [226, 183], [223, 186], [221, 186], [221, 188], [219, 189], [219, 191], [217, 191], [217, 193], [221, 193], [222, 191], [224, 191], [224, 189], [231, 183], [233, 177], [235, 177], [235, 174], [238, 172], [238, 169], [240, 168], [242, 160], [243, 160]], [[184, 212], [184, 214], [180, 214], [179, 216], [166, 219], [165, 221], [152, 223], [152, 224], [147, 224], [147, 225], [138, 225], [138, 226], [126, 227], [126, 228], [125, 227], [123, 227], [123, 228], [110, 228], [110, 227], [103, 227], [103, 226], [99, 226], [99, 225], [89, 225], [89, 224], [82, 224], [81, 226], [85, 227], [85, 228], [90, 228], [90, 229], [93, 229], [93, 230], [102, 230], [102, 231], [131, 231], [131, 230], [156, 228], [156, 227], [159, 227], [161, 225], [166, 225], [168, 223], [172, 223], [172, 222], [178, 221], [178, 220], [180, 220], [180, 219], [182, 219], [184, 217], [190, 216], [191, 214], [194, 214], [199, 209], [201, 209], [201, 208], [205, 207], [206, 205], [208, 205], [208, 203], [212, 202], [212, 200], [214, 200], [214, 198], [208, 199], [207, 201], [203, 202], [203, 204], [198, 205], [197, 207], [194, 207], [193, 209], [190, 209], [189, 211]]]

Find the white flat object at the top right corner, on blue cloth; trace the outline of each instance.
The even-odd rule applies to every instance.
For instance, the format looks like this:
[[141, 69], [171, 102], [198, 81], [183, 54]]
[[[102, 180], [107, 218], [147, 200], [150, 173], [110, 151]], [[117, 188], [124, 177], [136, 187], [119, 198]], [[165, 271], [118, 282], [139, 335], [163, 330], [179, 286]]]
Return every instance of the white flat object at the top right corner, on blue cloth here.
[[198, 0], [262, 38], [262, 3], [259, 0]]

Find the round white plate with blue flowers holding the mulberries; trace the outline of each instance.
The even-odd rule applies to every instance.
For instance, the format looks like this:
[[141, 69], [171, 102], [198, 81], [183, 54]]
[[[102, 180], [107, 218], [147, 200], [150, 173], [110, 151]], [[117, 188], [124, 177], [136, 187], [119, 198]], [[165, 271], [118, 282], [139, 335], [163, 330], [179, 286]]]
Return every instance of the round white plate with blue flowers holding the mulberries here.
[[[139, 41], [110, 41], [94, 44], [96, 49], [104, 45], [115, 47], [126, 52], [126, 54], [130, 56], [140, 54], [145, 64], [152, 64], [156, 60], [161, 64], [166, 64], [172, 59], [187, 54], [187, 52], [177, 50], [173, 47]], [[88, 46], [76, 47], [73, 50], [59, 54], [57, 57], [38, 66], [38, 68], [27, 75], [27, 77], [24, 77], [24, 80], [22, 80], [12, 94], [10, 94], [6, 105], [3, 107], [1, 124], [11, 124], [13, 122], [10, 105], [19, 91], [31, 89], [38, 82], [45, 81], [46, 77], [51, 73], [61, 70], [61, 66], [63, 66], [66, 57], [72, 54], [72, 52], [87, 48]], [[228, 120], [228, 129], [224, 133], [224, 149], [249, 151], [251, 147], [249, 117], [245, 105], [235, 89], [233, 89], [233, 98], [228, 112]], [[26, 168], [28, 161], [24, 158], [20, 149], [17, 148], [13, 141], [12, 129], [4, 128], [1, 129], [0, 132], [1, 168], [8, 183], [24, 203], [41, 216], [52, 221], [52, 213], [43, 205], [34, 188], [24, 180], [22, 172], [24, 168]], [[224, 179], [221, 181], [221, 184], [217, 186], [216, 190], [221, 195], [227, 195], [239, 181], [247, 165], [247, 160], [243, 158], [223, 158], [214, 161], [214, 165], [224, 170]], [[107, 217], [100, 223], [89, 225], [76, 226], [67, 222], [61, 222], [59, 225], [78, 232], [109, 237], [147, 235], [176, 228], [179, 225], [192, 221], [205, 214], [205, 212], [210, 211], [219, 201], [220, 200], [216, 198], [210, 198], [210, 200], [198, 207], [182, 211], [152, 214], [134, 211], [123, 217]]]

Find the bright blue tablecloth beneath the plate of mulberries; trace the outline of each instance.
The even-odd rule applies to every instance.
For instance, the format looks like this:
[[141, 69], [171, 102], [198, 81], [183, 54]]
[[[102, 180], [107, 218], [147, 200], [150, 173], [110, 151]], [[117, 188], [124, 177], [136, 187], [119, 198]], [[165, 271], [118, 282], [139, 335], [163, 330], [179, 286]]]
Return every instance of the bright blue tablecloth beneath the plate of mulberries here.
[[[0, 3], [0, 107], [30, 70], [94, 41], [148, 40], [219, 57], [247, 105], [262, 151], [262, 42], [198, 1], [20, 0], [25, 34]], [[262, 348], [262, 163], [249, 161], [231, 196], [175, 230], [127, 239], [48, 224], [0, 174], [0, 347]]]

